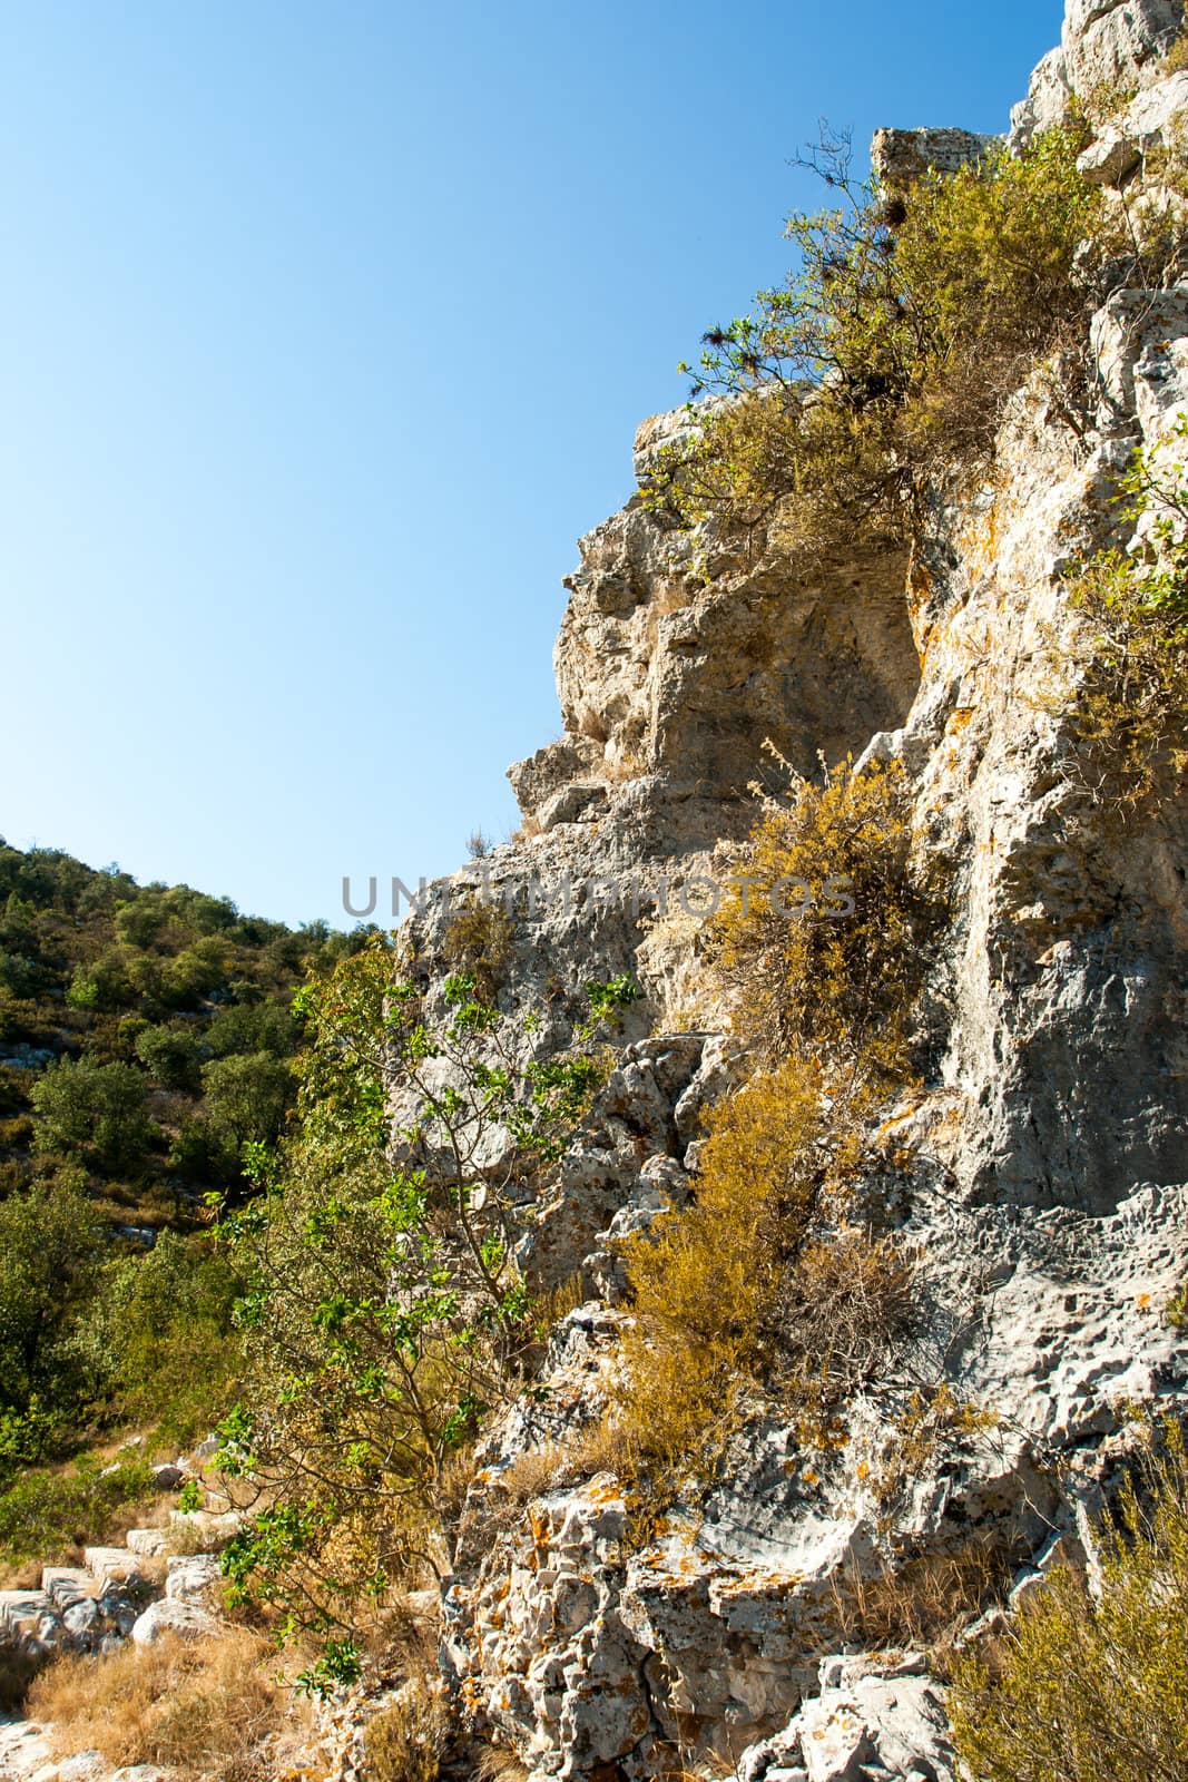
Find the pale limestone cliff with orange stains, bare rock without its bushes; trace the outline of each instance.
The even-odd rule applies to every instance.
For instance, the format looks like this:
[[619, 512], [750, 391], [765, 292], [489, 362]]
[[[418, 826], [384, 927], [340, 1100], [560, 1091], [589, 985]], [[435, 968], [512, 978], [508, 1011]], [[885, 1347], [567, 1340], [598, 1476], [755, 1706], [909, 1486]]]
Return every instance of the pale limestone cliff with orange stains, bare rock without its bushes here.
[[[1124, 86], [1083, 166], [1142, 180], [1188, 109], [1188, 77], [1160, 64], [1181, 23], [1172, 0], [1069, 0], [1013, 141]], [[878, 157], [910, 180], [981, 141], [883, 132]], [[673, 1752], [743, 1782], [951, 1777], [942, 1684], [919, 1650], [887, 1648], [873, 1581], [960, 1565], [974, 1538], [1005, 1557], [1012, 1602], [1058, 1557], [1092, 1565], [1126, 1406], [1188, 1406], [1188, 1344], [1163, 1315], [1188, 1269], [1188, 802], [1172, 789], [1122, 823], [1086, 798], [1056, 697], [1078, 650], [1062, 570], [1117, 529], [1135, 446], [1170, 454], [1188, 408], [1188, 287], [1117, 294], [1092, 378], [1088, 429], [1051, 378], [1017, 394], [994, 474], [937, 495], [910, 563], [805, 581], [778, 545], [691, 536], [641, 497], [581, 542], [556, 649], [565, 734], [511, 770], [524, 838], [454, 882], [517, 912], [508, 1025], [552, 1018], [524, 1046], [561, 1041], [591, 977], [647, 993], [522, 1246], [536, 1285], [577, 1279], [584, 1303], [486, 1440], [443, 1597], [460, 1700], [534, 1777], [645, 1777]], [[641, 479], [686, 424], [643, 424]], [[987, 1417], [898, 1481], [907, 1386], [873, 1392], [814, 1465], [757, 1406], [707, 1490], [639, 1541], [614, 1474], [575, 1479], [557, 1456], [618, 1367], [613, 1238], [695, 1192], [700, 1116], [737, 1073], [698, 909], [714, 848], [753, 818], [766, 743], [801, 773], [819, 756], [899, 763], [914, 848], [953, 886], [933, 1064], [871, 1126], [866, 1194], [923, 1258], [912, 1377]], [[445, 921], [445, 903], [419, 920], [429, 960]], [[525, 1456], [527, 1499], [508, 1484]]]

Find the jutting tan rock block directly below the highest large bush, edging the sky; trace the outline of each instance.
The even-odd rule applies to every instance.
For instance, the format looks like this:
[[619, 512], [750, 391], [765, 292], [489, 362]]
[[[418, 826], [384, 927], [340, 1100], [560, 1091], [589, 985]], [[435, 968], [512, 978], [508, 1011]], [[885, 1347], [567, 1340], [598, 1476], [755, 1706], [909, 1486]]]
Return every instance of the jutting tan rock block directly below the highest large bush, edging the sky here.
[[[684, 426], [684, 410], [641, 426], [641, 478]], [[745, 795], [766, 738], [809, 772], [818, 748], [842, 756], [871, 718], [907, 715], [917, 661], [903, 565], [853, 561], [805, 584], [778, 551], [707, 547], [638, 497], [579, 549], [554, 654], [565, 738], [511, 768], [541, 827], [593, 820], [645, 777], [670, 800], [721, 805]]]

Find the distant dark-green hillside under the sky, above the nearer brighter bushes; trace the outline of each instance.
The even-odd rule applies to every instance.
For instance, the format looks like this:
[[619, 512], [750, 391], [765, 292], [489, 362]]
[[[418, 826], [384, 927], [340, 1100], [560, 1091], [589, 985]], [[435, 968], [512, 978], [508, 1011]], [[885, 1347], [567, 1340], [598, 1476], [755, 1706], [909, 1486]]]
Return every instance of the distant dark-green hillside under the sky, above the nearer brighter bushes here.
[[347, 946], [0, 841], [0, 1192], [64, 1164], [125, 1235], [192, 1224], [278, 1137], [294, 991]]

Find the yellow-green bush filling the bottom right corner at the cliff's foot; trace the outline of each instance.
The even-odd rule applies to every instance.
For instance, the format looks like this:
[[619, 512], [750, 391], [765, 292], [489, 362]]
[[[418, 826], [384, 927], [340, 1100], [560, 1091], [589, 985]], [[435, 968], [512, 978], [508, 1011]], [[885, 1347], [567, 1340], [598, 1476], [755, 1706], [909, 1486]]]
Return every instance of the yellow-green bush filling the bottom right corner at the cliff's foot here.
[[1188, 1775], [1188, 1467], [1183, 1440], [1103, 1536], [1101, 1590], [1058, 1572], [1010, 1636], [958, 1668], [949, 1707], [981, 1782]]

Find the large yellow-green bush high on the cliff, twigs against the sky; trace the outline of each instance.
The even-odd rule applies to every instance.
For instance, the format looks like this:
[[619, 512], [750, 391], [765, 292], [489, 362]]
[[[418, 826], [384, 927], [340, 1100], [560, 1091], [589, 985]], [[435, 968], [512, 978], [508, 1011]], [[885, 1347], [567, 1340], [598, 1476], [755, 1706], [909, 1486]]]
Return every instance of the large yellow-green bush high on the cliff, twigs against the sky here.
[[1078, 148], [1056, 128], [901, 196], [858, 185], [826, 141], [812, 164], [837, 208], [794, 214], [798, 267], [705, 335], [695, 396], [728, 401], [695, 410], [700, 438], [661, 456], [645, 499], [684, 524], [775, 519], [810, 561], [910, 538], [928, 476], [985, 458], [1035, 360], [1083, 342], [1103, 198]]

